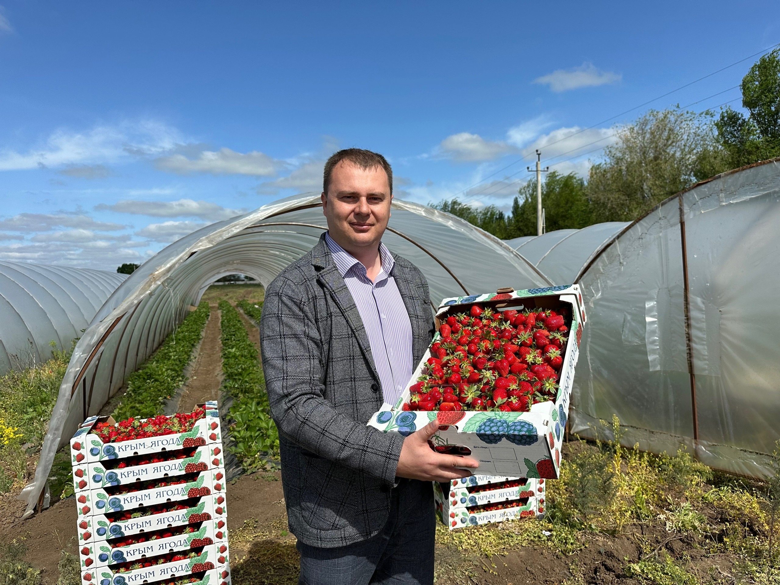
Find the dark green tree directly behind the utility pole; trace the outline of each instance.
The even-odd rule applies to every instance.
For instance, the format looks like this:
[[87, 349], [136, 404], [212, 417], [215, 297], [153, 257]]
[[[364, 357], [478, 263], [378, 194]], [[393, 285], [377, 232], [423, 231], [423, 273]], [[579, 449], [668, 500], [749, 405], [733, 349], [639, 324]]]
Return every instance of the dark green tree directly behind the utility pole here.
[[[508, 220], [516, 236], [536, 236], [537, 186], [531, 179], [520, 187], [519, 197], [512, 203], [512, 216]], [[590, 225], [590, 201], [585, 191], [585, 179], [573, 172], [562, 175], [551, 171], [541, 186], [541, 203], [544, 207], [544, 228], [580, 229]]]

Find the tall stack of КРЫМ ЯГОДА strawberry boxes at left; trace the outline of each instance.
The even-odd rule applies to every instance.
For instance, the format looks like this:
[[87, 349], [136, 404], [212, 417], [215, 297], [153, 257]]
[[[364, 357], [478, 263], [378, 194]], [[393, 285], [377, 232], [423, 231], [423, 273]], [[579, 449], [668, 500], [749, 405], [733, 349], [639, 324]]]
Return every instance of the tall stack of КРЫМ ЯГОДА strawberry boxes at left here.
[[83, 583], [229, 585], [216, 402], [171, 417], [90, 417], [71, 450]]

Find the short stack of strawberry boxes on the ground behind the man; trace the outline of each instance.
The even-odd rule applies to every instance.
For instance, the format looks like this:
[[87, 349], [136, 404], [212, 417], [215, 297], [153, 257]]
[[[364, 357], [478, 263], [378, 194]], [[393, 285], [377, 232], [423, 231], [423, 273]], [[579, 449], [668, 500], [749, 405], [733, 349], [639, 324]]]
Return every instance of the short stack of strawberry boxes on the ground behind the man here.
[[[498, 478], [503, 479], [503, 478]], [[502, 488], [509, 482], [519, 485], [511, 491]], [[521, 483], [522, 482], [522, 483]], [[457, 483], [457, 482], [453, 482]], [[495, 488], [494, 488], [495, 486]], [[480, 524], [503, 522], [504, 520], [541, 517], [544, 513], [544, 480], [506, 480], [472, 486], [472, 488], [485, 488], [485, 491], [465, 491], [463, 484], [459, 488], [449, 484], [434, 482], [434, 502], [436, 515], [441, 523], [449, 530]], [[530, 489], [530, 488], [534, 489]], [[450, 488], [449, 493], [445, 492]], [[525, 488], [520, 491], [520, 488]], [[461, 502], [461, 495], [465, 491], [466, 502]], [[452, 494], [456, 494], [452, 496]], [[472, 496], [483, 495], [480, 500], [470, 501]]]

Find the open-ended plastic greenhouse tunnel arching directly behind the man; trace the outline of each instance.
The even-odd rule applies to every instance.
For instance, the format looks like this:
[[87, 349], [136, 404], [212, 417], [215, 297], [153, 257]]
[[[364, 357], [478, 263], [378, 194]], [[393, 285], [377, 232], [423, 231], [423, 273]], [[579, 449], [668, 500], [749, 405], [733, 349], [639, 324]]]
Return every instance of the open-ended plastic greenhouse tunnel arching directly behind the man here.
[[[197, 306], [212, 282], [241, 273], [268, 285], [310, 250], [326, 229], [319, 194], [265, 205], [193, 232], [138, 268], [97, 311], [76, 344], [34, 480], [22, 491], [25, 517], [45, 506], [44, 484], [55, 452], [95, 414]], [[424, 272], [431, 310], [441, 299], [550, 285], [502, 240], [452, 215], [393, 200], [383, 242]]]

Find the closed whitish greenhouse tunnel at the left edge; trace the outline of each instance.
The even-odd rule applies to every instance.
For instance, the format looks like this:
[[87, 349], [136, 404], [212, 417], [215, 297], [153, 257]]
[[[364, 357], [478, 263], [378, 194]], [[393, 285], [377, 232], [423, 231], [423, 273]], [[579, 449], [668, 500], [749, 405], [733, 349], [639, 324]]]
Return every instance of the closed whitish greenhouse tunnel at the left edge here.
[[[0, 261], [0, 375], [66, 351], [127, 275]], [[54, 346], [51, 346], [54, 342]]]

